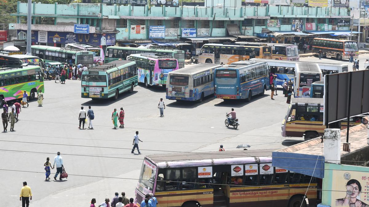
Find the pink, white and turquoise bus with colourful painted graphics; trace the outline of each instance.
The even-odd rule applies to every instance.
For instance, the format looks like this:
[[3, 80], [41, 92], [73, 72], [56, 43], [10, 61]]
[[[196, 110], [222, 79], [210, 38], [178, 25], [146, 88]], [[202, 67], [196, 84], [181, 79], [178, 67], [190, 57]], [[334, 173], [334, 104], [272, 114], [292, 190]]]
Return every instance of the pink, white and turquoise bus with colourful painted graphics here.
[[127, 60], [137, 63], [138, 82], [150, 85], [163, 85], [165, 87], [168, 73], [178, 70], [178, 61], [171, 56], [156, 53], [131, 54]]

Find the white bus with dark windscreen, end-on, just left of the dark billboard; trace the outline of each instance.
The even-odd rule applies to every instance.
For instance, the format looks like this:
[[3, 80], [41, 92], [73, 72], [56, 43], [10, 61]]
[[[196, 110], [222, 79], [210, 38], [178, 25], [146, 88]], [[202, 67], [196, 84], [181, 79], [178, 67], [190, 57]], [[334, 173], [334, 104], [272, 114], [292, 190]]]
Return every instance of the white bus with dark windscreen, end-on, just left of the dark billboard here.
[[310, 97], [311, 84], [323, 81], [323, 74], [317, 63], [297, 63], [294, 71], [294, 97]]

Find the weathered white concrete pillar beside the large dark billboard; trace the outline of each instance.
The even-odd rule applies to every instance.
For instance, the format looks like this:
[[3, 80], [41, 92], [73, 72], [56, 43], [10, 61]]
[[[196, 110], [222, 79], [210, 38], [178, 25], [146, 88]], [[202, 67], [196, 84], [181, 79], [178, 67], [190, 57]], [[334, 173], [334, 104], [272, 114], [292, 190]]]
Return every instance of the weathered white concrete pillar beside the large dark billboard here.
[[324, 130], [324, 159], [325, 162], [341, 164], [341, 130]]

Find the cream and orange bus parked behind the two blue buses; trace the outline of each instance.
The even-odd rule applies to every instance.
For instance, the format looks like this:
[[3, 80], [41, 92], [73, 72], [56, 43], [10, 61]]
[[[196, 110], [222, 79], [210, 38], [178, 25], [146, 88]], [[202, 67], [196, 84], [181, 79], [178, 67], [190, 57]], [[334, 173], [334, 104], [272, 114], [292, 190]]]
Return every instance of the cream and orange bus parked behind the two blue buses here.
[[199, 63], [231, 64], [255, 57], [270, 59], [271, 47], [205, 44], [199, 54]]

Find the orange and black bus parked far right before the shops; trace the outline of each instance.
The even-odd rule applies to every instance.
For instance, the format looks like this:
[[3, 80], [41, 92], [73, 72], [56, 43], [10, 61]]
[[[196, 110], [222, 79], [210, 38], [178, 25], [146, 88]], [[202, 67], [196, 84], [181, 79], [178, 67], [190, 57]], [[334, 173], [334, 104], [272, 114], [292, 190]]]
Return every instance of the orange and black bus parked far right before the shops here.
[[351, 40], [314, 38], [313, 53], [319, 55], [319, 50], [322, 50], [323, 56], [335, 57], [337, 60], [350, 59], [351, 52], [354, 58], [359, 56], [358, 43]]

